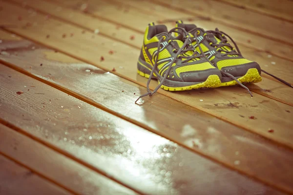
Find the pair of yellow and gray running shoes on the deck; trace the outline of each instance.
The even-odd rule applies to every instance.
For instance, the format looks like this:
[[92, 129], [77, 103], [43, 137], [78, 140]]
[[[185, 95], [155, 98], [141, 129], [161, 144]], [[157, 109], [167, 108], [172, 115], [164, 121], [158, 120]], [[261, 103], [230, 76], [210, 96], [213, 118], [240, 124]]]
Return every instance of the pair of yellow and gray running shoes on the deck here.
[[[141, 97], [151, 96], [160, 87], [184, 91], [240, 84], [249, 91], [242, 83], [262, 80], [259, 64], [245, 59], [229, 35], [217, 28], [205, 31], [182, 20], [170, 31], [166, 25], [148, 24], [137, 73], [148, 78], [147, 93]], [[151, 78], [159, 82], [153, 92], [149, 89]]]

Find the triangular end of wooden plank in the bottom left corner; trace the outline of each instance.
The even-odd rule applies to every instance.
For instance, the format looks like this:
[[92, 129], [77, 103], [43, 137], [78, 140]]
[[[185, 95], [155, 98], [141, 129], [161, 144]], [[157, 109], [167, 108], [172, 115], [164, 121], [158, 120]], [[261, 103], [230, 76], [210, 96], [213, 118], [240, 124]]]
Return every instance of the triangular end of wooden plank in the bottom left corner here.
[[0, 155], [0, 173], [1, 195], [71, 194], [2, 155]]

